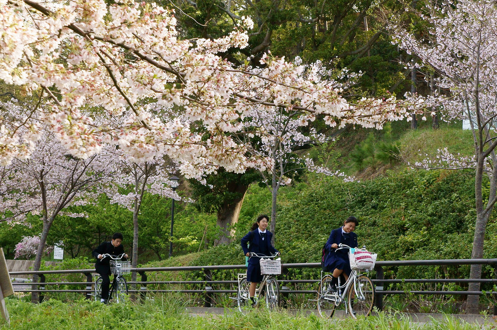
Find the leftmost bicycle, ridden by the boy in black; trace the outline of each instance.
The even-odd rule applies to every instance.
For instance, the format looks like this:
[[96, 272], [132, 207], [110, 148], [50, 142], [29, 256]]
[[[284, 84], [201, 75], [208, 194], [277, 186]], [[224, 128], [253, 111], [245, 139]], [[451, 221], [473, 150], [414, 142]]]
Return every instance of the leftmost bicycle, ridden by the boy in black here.
[[[109, 296], [105, 300], [105, 304], [108, 304], [111, 299], [115, 296], [116, 303], [124, 303], [126, 296], [128, 295], [128, 285], [126, 279], [123, 277], [124, 274], [129, 274], [131, 272], [131, 262], [121, 261], [124, 257], [124, 253], [119, 256], [111, 256], [109, 254], [104, 254], [103, 259], [109, 257], [110, 260], [110, 272], [114, 274], [114, 279], [109, 288]], [[102, 277], [97, 275], [95, 278], [95, 283], [93, 286], [93, 296], [95, 301], [100, 301], [102, 291]]]

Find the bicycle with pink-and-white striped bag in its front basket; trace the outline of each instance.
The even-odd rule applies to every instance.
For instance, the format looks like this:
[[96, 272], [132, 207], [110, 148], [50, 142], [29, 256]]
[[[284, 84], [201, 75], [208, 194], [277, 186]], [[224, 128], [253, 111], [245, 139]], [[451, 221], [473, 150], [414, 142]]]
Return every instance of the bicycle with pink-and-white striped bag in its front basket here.
[[[336, 309], [344, 303], [345, 314], [350, 314], [354, 319], [358, 316], [368, 316], [374, 305], [375, 287], [367, 275], [360, 272], [372, 270], [376, 262], [376, 254], [368, 252], [365, 247], [362, 249], [351, 248], [345, 244], [339, 244], [337, 250], [350, 249], [349, 261], [350, 276], [345, 283], [340, 284], [336, 290], [331, 290], [331, 275], [323, 275], [321, 271], [321, 281], [318, 288], [318, 311], [323, 318], [332, 318]], [[346, 298], [346, 303], [345, 303]]]

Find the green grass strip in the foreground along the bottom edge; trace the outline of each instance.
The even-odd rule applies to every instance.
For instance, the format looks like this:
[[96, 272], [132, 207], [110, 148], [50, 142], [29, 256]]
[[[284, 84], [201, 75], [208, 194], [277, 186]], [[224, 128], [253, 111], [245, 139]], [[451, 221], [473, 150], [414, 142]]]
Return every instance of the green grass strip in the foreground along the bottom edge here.
[[481, 326], [454, 320], [445, 316], [443, 320], [432, 320], [426, 324], [412, 323], [401, 314], [378, 316], [353, 320], [351, 318], [324, 320], [304, 311], [289, 313], [286, 310], [270, 312], [255, 309], [244, 315], [235, 309], [226, 310], [223, 315], [192, 316], [185, 312], [185, 303], [174, 295], [158, 296], [144, 303], [129, 305], [101, 305], [80, 300], [64, 303], [49, 300], [42, 304], [31, 304], [17, 298], [6, 299], [10, 314], [10, 326], [0, 321], [0, 330], [408, 330], [408, 329], [450, 329], [472, 330]]

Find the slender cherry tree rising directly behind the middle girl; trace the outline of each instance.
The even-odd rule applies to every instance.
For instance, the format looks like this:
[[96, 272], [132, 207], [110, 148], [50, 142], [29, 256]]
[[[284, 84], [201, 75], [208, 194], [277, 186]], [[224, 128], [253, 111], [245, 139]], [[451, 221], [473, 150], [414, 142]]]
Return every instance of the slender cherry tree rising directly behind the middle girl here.
[[[300, 63], [300, 59], [296, 59]], [[326, 69], [321, 62], [306, 66], [300, 65], [300, 71], [297, 73], [301, 76], [317, 75], [323, 76], [332, 74], [332, 70]], [[339, 78], [345, 78], [346, 72], [340, 72]], [[355, 74], [352, 74], [343, 82], [330, 80], [329, 83], [336, 89], [344, 90], [352, 84]], [[298, 176], [303, 169], [324, 173], [329, 176], [346, 177], [339, 171], [314, 164], [312, 158], [299, 151], [310, 148], [314, 145], [330, 142], [343, 130], [336, 130], [331, 134], [318, 133], [315, 128], [309, 126], [316, 120], [314, 114], [301, 116], [299, 111], [285, 111], [279, 107], [253, 107], [249, 113], [248, 120], [245, 122], [246, 127], [259, 128], [264, 134], [248, 133], [249, 141], [244, 144], [249, 145], [249, 152], [256, 157], [271, 160], [271, 166], [262, 167], [259, 172], [262, 181], [271, 191], [271, 223], [270, 230], [275, 232], [276, 227], [276, 208], [277, 195], [281, 186], [289, 185], [292, 179]], [[256, 137], [256, 138], [254, 138]], [[346, 177], [347, 179], [351, 179]], [[274, 240], [274, 236], [273, 236]], [[274, 243], [274, 242], [273, 242]]]

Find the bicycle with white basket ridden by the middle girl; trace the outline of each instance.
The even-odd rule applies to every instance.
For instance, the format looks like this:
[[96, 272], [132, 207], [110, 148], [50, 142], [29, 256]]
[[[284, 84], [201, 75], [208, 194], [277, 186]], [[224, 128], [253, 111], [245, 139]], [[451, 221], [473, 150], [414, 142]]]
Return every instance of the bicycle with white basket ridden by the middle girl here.
[[[279, 254], [273, 256], [257, 255], [250, 253], [250, 257], [259, 257], [260, 259], [260, 274], [263, 275], [259, 287], [255, 290], [255, 306], [258, 305], [258, 297], [264, 293], [266, 306], [273, 309], [279, 304], [279, 287], [275, 275], [281, 274], [281, 260], [274, 260]], [[240, 312], [247, 306], [252, 305], [252, 300], [249, 297], [248, 288], [250, 282], [247, 281], [247, 273], [238, 274], [238, 290], [237, 290], [237, 303]]]

